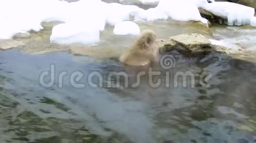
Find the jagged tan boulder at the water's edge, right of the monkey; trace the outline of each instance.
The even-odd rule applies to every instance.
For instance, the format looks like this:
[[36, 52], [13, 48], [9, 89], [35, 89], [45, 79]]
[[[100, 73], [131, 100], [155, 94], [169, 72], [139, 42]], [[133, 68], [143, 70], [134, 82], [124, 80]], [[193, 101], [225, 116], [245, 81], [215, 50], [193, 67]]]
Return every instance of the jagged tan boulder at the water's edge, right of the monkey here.
[[207, 54], [213, 50], [211, 41], [200, 34], [181, 34], [158, 40], [163, 49], [178, 50], [185, 54]]

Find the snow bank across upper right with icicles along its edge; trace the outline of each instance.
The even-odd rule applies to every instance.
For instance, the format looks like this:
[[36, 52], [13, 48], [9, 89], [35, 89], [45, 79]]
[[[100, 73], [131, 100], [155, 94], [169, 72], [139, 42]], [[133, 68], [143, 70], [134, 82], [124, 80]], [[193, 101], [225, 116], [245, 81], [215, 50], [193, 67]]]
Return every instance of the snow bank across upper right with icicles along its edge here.
[[[143, 3], [158, 0], [140, 0]], [[230, 2], [215, 0], [159, 0], [158, 6], [146, 11], [141, 10], [135, 19], [147, 21], [172, 18], [177, 21], [201, 21], [207, 24], [198, 11], [198, 7], [228, 20], [228, 25], [255, 25], [254, 8]]]

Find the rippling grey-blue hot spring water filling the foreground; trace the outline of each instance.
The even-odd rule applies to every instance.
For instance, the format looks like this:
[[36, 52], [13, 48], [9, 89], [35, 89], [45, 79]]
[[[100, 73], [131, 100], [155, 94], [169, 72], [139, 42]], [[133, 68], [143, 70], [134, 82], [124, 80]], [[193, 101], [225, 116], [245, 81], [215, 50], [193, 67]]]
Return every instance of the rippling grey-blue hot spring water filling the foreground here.
[[[117, 89], [94, 88], [87, 82], [93, 71], [103, 75], [104, 83], [109, 72], [126, 71], [133, 79], [134, 73], [115, 59], [91, 63], [65, 52], [1, 51], [0, 139], [12, 143], [254, 143], [256, 65], [217, 53], [200, 58], [169, 54], [176, 59], [175, 67], [167, 71], [152, 67], [170, 73], [168, 88], [166, 75], [161, 74], [154, 77], [161, 79], [158, 88], [143, 76], [138, 87]], [[55, 64], [55, 82], [44, 88], [39, 75], [51, 64]], [[63, 71], [67, 75], [61, 82], [57, 77]], [[83, 73], [76, 83], [85, 87], [72, 86], [69, 77], [75, 71]], [[195, 87], [182, 87], [182, 79], [175, 87], [173, 75], [186, 71], [194, 73]], [[205, 71], [212, 74], [210, 87], [199, 80]], [[243, 131], [237, 130], [239, 126]]]

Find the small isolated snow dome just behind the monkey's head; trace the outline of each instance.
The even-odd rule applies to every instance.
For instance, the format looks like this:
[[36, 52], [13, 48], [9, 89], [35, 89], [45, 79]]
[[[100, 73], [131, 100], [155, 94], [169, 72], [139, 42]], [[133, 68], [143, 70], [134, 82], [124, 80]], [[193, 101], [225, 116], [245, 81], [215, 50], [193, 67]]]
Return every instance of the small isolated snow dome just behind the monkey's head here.
[[135, 35], [140, 34], [139, 26], [132, 21], [123, 21], [115, 25], [113, 30], [115, 35]]

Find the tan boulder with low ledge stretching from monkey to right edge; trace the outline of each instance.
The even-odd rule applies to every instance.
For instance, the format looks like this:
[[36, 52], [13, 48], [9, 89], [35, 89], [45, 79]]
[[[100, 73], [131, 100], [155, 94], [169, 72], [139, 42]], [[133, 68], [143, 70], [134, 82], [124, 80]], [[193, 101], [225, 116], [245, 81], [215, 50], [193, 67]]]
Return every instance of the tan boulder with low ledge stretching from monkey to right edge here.
[[177, 50], [187, 56], [206, 55], [211, 52], [225, 53], [235, 58], [256, 56], [256, 52], [246, 51], [242, 48], [226, 47], [216, 42], [212, 43], [211, 40], [196, 33], [181, 34], [169, 37], [169, 39], [157, 39], [157, 41], [162, 50], [167, 52]]

